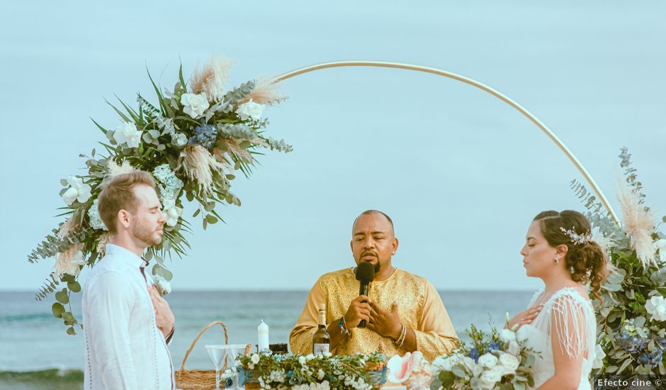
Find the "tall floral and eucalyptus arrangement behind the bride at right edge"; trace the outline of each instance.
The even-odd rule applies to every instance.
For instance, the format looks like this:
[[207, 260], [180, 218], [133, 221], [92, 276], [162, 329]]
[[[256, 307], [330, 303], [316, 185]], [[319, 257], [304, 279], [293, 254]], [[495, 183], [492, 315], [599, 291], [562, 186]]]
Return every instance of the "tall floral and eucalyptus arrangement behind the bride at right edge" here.
[[[645, 204], [643, 186], [626, 147], [619, 155], [624, 169], [617, 225], [584, 186], [572, 189], [587, 208], [594, 240], [608, 253], [611, 273], [602, 286], [597, 311], [596, 374], [666, 374], [666, 235], [658, 231], [654, 212]], [[662, 218], [666, 222], [666, 217]]]

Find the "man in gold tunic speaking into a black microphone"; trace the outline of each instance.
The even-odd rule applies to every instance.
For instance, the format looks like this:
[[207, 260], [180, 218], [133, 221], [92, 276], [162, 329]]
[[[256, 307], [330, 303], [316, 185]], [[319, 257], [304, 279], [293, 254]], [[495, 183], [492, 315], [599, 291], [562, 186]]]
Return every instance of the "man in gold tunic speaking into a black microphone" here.
[[[357, 265], [370, 262], [375, 268], [368, 296], [359, 296], [354, 268], [322, 275], [289, 335], [293, 353], [312, 353], [322, 303], [334, 355], [380, 351], [391, 357], [420, 351], [434, 360], [455, 347], [456, 330], [434, 286], [391, 264], [397, 245], [393, 221], [384, 213], [368, 210], [356, 218], [351, 240], [354, 260]], [[362, 320], [366, 328], [359, 328]]]

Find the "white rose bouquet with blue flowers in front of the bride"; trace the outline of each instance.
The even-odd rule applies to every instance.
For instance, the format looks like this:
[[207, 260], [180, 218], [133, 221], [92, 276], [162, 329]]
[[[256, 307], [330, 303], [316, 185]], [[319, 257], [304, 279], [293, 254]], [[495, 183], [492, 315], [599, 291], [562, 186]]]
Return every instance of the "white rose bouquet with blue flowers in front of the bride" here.
[[[507, 323], [508, 323], [507, 314]], [[525, 346], [511, 329], [490, 333], [470, 325], [470, 344], [460, 342], [456, 350], [437, 357], [431, 365], [431, 389], [515, 389], [534, 386], [531, 366], [538, 353]]]

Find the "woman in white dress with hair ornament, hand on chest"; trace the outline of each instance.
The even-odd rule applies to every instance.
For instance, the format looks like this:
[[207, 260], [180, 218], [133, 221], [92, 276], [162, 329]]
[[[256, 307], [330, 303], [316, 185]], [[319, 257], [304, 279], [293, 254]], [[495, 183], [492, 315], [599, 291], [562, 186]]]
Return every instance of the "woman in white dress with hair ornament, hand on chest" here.
[[527, 276], [543, 280], [526, 311], [507, 327], [537, 352], [534, 389], [590, 389], [597, 321], [585, 284], [597, 299], [606, 278], [606, 256], [577, 211], [543, 211], [527, 230], [520, 251]]

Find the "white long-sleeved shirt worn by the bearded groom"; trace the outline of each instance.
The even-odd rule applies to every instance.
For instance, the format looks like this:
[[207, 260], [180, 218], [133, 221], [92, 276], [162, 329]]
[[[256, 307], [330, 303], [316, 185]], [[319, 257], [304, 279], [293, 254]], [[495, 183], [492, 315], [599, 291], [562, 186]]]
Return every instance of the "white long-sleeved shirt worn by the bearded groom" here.
[[171, 355], [157, 328], [141, 257], [107, 244], [83, 291], [84, 389], [174, 389]]

